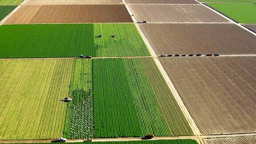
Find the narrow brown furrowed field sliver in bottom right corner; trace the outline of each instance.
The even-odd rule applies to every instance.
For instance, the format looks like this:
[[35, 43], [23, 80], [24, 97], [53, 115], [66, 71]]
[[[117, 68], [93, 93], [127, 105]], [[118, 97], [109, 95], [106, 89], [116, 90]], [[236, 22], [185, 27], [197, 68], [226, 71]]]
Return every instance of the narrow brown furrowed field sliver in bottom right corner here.
[[256, 136], [236, 136], [203, 139], [205, 144], [256, 144]]

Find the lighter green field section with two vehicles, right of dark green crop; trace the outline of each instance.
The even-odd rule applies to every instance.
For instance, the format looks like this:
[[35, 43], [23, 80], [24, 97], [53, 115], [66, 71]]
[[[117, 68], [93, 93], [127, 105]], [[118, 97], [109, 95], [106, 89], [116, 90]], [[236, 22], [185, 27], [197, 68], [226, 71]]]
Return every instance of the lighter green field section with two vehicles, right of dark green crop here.
[[98, 57], [150, 56], [134, 24], [94, 24], [94, 36], [100, 34], [103, 36], [94, 38]]

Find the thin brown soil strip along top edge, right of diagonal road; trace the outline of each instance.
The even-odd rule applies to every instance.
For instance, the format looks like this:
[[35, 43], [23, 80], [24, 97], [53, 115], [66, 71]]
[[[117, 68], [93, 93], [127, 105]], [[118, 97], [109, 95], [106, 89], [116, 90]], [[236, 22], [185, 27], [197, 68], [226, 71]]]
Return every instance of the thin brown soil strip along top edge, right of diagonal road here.
[[127, 4], [199, 4], [196, 0], [125, 0]]

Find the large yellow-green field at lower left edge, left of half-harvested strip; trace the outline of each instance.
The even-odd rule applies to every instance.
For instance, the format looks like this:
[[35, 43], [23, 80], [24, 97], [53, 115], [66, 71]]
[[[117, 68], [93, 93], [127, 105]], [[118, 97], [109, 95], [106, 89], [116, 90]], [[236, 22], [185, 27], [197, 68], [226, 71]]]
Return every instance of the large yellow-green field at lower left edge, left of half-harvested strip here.
[[0, 60], [0, 140], [62, 136], [72, 60]]

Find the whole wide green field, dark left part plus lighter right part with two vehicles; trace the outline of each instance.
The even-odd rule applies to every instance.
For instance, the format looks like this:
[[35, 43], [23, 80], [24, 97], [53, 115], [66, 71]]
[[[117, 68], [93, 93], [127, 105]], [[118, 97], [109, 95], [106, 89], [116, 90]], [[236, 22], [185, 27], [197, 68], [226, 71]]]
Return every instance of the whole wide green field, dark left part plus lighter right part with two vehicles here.
[[[122, 31], [120, 31], [122, 29]], [[111, 37], [112, 34], [116, 37]], [[96, 37], [102, 34], [103, 37]], [[134, 24], [0, 26], [0, 58], [149, 56]]]

